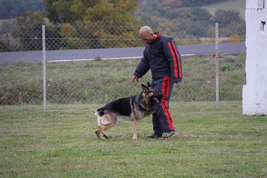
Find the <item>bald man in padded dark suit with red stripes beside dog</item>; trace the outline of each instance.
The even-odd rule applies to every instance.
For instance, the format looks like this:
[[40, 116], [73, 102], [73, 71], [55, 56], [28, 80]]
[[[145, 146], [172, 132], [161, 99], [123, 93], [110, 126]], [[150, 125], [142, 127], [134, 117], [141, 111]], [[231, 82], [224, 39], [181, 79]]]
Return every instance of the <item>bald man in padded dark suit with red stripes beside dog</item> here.
[[151, 28], [143, 26], [139, 31], [141, 40], [146, 44], [143, 57], [137, 65], [132, 82], [152, 72], [151, 86], [164, 96], [159, 103], [153, 103], [152, 123], [154, 134], [147, 138], [168, 139], [175, 136], [175, 127], [169, 111], [169, 101], [174, 83], [182, 81], [182, 60], [178, 48], [171, 37], [153, 33]]

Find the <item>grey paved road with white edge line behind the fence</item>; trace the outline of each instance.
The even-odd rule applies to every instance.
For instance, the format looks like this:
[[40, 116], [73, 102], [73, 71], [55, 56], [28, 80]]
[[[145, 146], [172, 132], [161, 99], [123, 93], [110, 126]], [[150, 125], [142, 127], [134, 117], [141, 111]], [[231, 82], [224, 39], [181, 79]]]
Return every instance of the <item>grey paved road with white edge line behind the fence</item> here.
[[[215, 44], [207, 45], [180, 45], [178, 46], [181, 55], [213, 55]], [[46, 51], [46, 61], [75, 61], [91, 60], [97, 56], [102, 59], [130, 59], [143, 56], [144, 47], [136, 48], [107, 48], [107, 49], [77, 49]], [[219, 44], [220, 54], [238, 54], [246, 52], [245, 42]], [[0, 52], [0, 65], [15, 63], [25, 60], [32, 63], [42, 62], [42, 51], [26, 52]]]

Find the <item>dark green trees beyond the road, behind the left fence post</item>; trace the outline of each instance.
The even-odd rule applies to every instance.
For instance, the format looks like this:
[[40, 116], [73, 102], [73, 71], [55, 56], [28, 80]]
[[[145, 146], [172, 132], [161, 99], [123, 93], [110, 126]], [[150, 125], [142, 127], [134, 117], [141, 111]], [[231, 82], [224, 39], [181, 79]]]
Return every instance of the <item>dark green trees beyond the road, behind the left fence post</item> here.
[[46, 26], [46, 49], [58, 49], [62, 38], [60, 27], [46, 24], [41, 12], [27, 11], [23, 17], [1, 24], [0, 32], [5, 34], [7, 39], [0, 41], [0, 51], [42, 50], [42, 25]]

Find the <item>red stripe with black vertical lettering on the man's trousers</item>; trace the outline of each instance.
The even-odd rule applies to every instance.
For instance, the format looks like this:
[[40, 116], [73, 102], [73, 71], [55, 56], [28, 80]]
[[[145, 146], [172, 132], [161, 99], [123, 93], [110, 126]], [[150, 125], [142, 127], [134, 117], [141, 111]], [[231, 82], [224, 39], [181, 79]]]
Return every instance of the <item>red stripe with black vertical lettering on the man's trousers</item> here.
[[174, 124], [173, 124], [173, 119], [171, 116], [171, 113], [169, 111], [169, 105], [166, 99], [169, 96], [169, 90], [170, 90], [170, 78], [169, 76], [164, 76], [163, 82], [162, 82], [162, 94], [164, 95], [163, 98], [161, 99], [161, 107], [163, 109], [164, 114], [166, 115], [170, 130], [175, 129]]

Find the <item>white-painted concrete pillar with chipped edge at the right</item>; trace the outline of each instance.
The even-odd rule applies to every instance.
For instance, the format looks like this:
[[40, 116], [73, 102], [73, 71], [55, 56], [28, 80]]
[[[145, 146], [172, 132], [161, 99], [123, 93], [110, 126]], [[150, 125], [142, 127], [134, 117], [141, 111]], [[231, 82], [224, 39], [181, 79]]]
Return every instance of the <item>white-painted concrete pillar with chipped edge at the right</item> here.
[[243, 114], [267, 115], [267, 0], [246, 0], [246, 85]]

